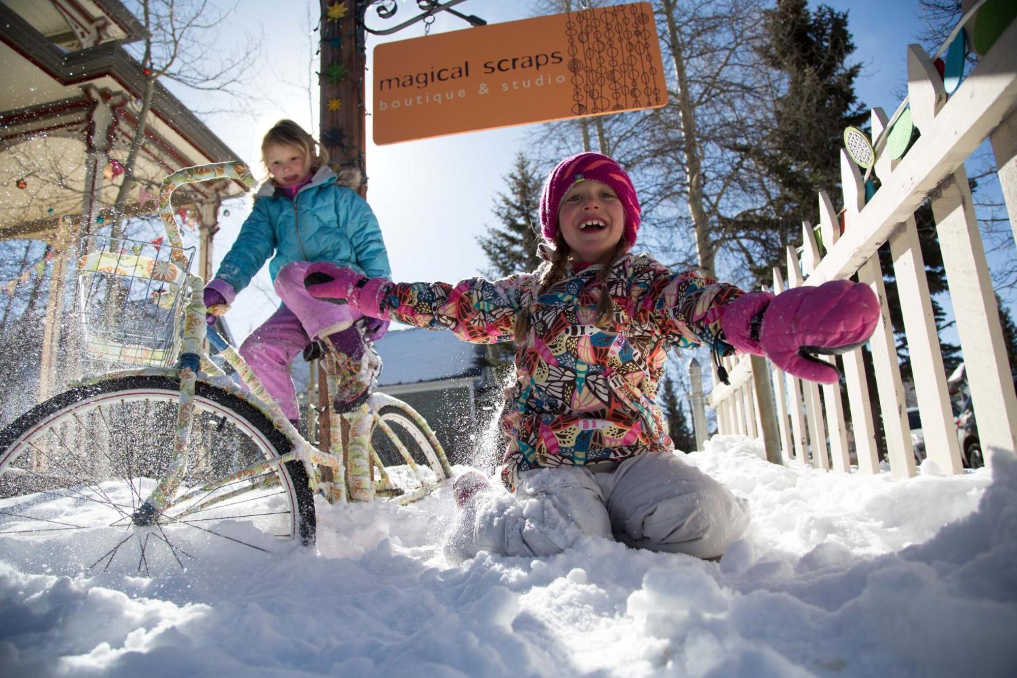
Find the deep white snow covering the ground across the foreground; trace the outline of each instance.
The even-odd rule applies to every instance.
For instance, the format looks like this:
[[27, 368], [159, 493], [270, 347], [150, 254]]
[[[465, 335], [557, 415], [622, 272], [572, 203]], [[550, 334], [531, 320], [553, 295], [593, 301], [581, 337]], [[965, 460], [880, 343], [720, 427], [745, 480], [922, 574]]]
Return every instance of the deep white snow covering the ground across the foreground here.
[[720, 563], [589, 539], [452, 564], [447, 488], [319, 503], [316, 549], [218, 548], [151, 577], [0, 553], [0, 675], [1017, 674], [1017, 460], [899, 481], [706, 447], [689, 460], [753, 511]]

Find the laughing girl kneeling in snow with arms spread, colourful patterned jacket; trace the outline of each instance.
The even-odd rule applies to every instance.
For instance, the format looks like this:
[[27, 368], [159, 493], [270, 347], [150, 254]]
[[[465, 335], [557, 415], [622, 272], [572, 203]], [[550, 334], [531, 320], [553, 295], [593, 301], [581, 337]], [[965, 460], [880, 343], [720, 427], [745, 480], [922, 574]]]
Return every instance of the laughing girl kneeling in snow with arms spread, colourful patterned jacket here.
[[478, 471], [456, 481], [451, 557], [547, 556], [584, 534], [720, 556], [749, 511], [674, 454], [655, 404], [667, 348], [766, 354], [795, 376], [833, 383], [836, 370], [806, 350], [862, 343], [879, 315], [876, 295], [846, 280], [746, 294], [629, 251], [640, 226], [636, 190], [617, 163], [594, 153], [551, 171], [540, 223], [545, 261], [530, 274], [396, 284], [317, 264], [305, 284], [312, 296], [346, 300], [371, 318], [515, 342], [516, 383], [501, 421], [510, 443], [500, 477], [510, 492]]

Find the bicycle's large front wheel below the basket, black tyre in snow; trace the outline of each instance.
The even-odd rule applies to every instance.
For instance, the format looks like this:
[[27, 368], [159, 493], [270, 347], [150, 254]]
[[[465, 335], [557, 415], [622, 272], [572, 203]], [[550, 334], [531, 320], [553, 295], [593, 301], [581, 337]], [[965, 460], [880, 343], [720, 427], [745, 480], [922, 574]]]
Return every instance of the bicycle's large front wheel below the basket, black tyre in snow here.
[[250, 403], [202, 382], [175, 499], [146, 524], [134, 518], [174, 462], [178, 388], [169, 377], [112, 378], [65, 391], [0, 432], [5, 558], [32, 570], [151, 574], [210, 549], [313, 543], [306, 470], [274, 462], [290, 441]]

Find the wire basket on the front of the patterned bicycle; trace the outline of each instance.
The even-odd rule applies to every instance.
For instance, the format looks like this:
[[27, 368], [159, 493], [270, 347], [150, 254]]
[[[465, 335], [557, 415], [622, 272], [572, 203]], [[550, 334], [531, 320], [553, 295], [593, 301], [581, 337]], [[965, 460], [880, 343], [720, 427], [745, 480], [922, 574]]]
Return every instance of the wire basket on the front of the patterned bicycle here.
[[194, 250], [108, 235], [81, 239], [77, 313], [86, 374], [176, 359]]

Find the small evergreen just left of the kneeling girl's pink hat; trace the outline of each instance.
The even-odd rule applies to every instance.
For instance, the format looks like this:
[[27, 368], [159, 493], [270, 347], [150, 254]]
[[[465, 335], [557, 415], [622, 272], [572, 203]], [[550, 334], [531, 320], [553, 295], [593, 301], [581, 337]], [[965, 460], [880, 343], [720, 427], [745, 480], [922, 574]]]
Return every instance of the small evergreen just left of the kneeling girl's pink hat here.
[[533, 271], [540, 264], [537, 243], [541, 177], [535, 172], [533, 161], [520, 152], [504, 179], [508, 191], [498, 193], [493, 209], [501, 223], [487, 227], [487, 235], [477, 236], [480, 248], [491, 263], [484, 274], [499, 278]]

